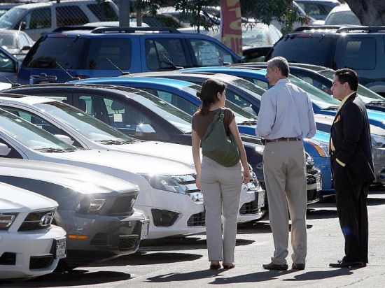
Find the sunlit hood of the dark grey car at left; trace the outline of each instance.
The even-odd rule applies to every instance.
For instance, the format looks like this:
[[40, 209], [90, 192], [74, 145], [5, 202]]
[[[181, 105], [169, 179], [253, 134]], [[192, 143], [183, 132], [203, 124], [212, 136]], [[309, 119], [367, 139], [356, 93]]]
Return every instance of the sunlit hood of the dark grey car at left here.
[[81, 194], [136, 192], [139, 189], [137, 185], [104, 173], [45, 161], [3, 159], [0, 175], [51, 182]]

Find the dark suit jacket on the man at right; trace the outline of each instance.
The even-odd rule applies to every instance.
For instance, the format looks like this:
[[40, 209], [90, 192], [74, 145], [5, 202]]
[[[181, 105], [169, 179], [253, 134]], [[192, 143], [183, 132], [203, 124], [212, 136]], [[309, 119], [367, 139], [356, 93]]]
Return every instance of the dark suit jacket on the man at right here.
[[338, 168], [344, 169], [352, 186], [372, 182], [375, 178], [369, 120], [365, 104], [356, 93], [335, 115], [330, 137], [335, 147], [330, 157], [332, 167], [339, 165], [335, 159], [344, 163], [344, 167]]

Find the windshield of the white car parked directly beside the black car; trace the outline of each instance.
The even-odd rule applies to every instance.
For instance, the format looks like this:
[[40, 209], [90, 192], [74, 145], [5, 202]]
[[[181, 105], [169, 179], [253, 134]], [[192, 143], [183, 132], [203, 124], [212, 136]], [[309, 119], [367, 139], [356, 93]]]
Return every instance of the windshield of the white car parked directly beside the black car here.
[[52, 115], [58, 120], [66, 123], [78, 133], [85, 136], [92, 141], [106, 142], [117, 141], [123, 143], [130, 143], [134, 138], [123, 134], [122, 132], [109, 127], [104, 122], [97, 120], [97, 118], [84, 113], [82, 110], [73, 108], [59, 101], [38, 103], [36, 107], [41, 108], [48, 115]]

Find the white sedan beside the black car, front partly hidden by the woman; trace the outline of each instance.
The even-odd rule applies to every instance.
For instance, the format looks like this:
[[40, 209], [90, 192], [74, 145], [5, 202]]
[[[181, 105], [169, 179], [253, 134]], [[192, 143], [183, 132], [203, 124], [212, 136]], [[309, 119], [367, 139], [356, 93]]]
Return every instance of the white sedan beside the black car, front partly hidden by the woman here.
[[[195, 171], [190, 146], [155, 141], [138, 141], [66, 103], [42, 96], [0, 97], [0, 106], [49, 131], [51, 134], [64, 134], [64, 136], [60, 136], [62, 139], [78, 147], [116, 150], [129, 152], [130, 155], [144, 154], [151, 157], [171, 159], [186, 164]], [[65, 138], [65, 136], [69, 138]], [[202, 194], [195, 186], [195, 179], [190, 178], [188, 181], [190, 182], [187, 187], [192, 199], [202, 201]], [[256, 178], [247, 185], [243, 185], [239, 201], [238, 222], [250, 222], [260, 219], [262, 212], [259, 208], [264, 203], [264, 199], [265, 192]], [[254, 202], [257, 202], [259, 207], [255, 207]], [[248, 206], [250, 207], [247, 208]], [[195, 215], [195, 218], [190, 219], [190, 224], [203, 224], [203, 217], [203, 214]], [[193, 222], [196, 222], [196, 224]]]

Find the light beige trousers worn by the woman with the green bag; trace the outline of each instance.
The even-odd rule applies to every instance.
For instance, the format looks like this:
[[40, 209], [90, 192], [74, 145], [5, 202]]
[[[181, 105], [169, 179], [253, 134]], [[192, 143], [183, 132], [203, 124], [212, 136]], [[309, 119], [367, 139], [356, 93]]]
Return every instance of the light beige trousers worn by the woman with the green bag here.
[[209, 261], [232, 263], [242, 185], [241, 164], [225, 167], [203, 157], [201, 185], [206, 209]]

